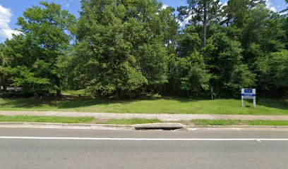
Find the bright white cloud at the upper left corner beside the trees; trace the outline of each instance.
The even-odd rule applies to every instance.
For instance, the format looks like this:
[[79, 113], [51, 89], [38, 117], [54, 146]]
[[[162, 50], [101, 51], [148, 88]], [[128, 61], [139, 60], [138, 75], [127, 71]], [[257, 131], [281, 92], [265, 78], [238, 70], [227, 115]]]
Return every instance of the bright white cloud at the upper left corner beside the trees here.
[[13, 14], [11, 12], [11, 9], [5, 8], [4, 6], [0, 5], [0, 37], [3, 37], [4, 39], [11, 39], [13, 37], [13, 34], [20, 34], [19, 31], [12, 30], [9, 26], [12, 16]]

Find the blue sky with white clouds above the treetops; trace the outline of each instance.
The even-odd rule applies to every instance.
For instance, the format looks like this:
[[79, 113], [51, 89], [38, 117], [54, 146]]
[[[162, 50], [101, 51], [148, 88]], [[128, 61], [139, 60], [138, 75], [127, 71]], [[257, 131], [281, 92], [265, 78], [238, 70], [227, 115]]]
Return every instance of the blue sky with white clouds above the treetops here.
[[[30, 8], [33, 5], [38, 5], [40, 0], [0, 0], [0, 42], [3, 42], [6, 38], [11, 38], [12, 33], [17, 33], [16, 22], [17, 18], [23, 14], [26, 8]], [[78, 11], [80, 11], [80, 0], [46, 0], [49, 2], [55, 2], [61, 4], [63, 8], [70, 11], [78, 17]], [[227, 0], [221, 0], [224, 4]], [[183, 6], [186, 4], [186, 0], [162, 0], [166, 6]], [[287, 5], [284, 4], [284, 0], [268, 0], [267, 6], [272, 11], [281, 11]]]

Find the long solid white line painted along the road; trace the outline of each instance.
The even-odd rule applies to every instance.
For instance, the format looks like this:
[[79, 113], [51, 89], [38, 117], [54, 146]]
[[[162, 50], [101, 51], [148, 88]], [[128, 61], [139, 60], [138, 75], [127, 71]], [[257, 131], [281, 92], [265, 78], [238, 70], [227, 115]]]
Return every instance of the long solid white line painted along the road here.
[[111, 140], [111, 141], [288, 141], [288, 139], [150, 139], [150, 138], [94, 138], [94, 137], [8, 137], [0, 139], [55, 139], [55, 140]]

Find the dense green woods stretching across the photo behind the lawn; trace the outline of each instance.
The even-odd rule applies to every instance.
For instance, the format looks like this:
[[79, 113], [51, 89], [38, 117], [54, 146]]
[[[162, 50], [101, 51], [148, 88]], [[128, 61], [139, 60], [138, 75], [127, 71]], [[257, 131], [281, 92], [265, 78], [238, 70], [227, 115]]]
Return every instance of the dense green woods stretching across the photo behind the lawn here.
[[264, 0], [187, 0], [177, 9], [157, 0], [81, 4], [78, 19], [47, 2], [18, 18], [22, 34], [0, 44], [4, 92], [226, 98], [248, 87], [288, 96], [287, 9], [275, 13]]

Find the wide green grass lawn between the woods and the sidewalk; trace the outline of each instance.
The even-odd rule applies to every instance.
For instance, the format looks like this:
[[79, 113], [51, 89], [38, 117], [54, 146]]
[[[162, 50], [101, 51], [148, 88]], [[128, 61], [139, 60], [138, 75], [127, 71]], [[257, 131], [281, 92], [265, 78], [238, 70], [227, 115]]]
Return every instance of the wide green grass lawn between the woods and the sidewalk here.
[[74, 98], [61, 101], [0, 99], [0, 111], [81, 111], [105, 113], [182, 113], [182, 114], [250, 114], [288, 115], [288, 100], [258, 99], [256, 110], [241, 107], [238, 99], [193, 100], [150, 98], [116, 101], [113, 99]]

